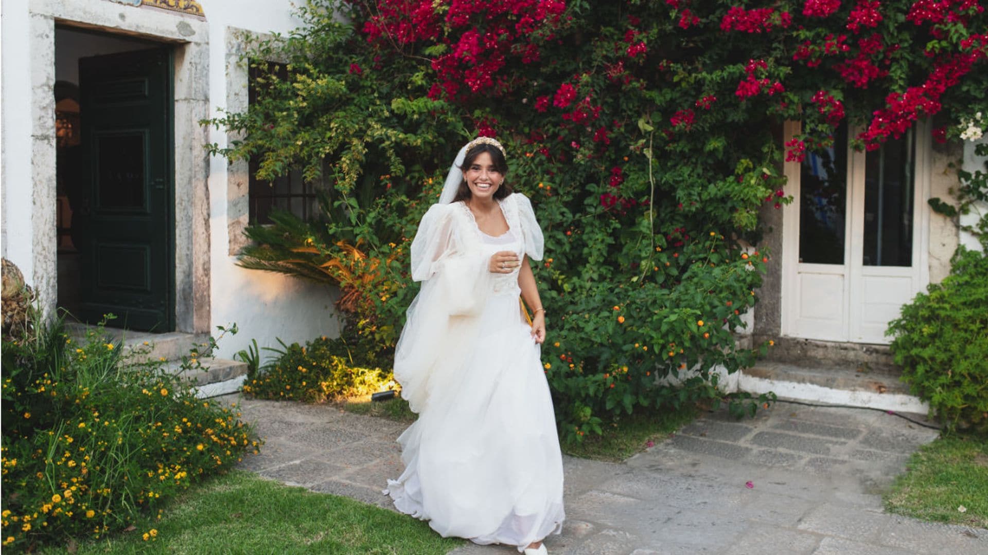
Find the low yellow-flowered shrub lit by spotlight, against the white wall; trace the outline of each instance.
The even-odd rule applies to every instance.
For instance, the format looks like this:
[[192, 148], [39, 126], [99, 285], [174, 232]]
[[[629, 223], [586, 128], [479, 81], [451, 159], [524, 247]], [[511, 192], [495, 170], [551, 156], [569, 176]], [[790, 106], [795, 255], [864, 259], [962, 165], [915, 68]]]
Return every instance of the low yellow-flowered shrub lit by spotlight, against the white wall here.
[[[281, 341], [281, 340], [279, 340]], [[278, 356], [251, 369], [243, 392], [258, 399], [284, 399], [321, 403], [368, 395], [393, 379], [391, 370], [366, 365], [344, 339], [314, 339], [305, 347], [282, 343]]]

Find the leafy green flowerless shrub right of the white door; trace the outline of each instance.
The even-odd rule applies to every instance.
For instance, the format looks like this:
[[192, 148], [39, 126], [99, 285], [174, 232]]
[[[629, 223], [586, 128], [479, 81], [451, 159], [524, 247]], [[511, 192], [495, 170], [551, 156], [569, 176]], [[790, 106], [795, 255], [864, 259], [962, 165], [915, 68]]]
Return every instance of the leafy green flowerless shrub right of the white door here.
[[947, 430], [988, 434], [988, 256], [961, 247], [950, 276], [903, 306], [886, 333], [903, 381]]

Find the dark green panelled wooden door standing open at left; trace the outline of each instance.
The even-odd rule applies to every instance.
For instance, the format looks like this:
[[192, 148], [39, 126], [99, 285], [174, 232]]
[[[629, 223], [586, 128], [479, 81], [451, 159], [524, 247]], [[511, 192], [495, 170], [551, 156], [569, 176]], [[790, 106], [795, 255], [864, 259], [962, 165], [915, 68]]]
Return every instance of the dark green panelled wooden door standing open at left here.
[[[79, 60], [83, 171], [82, 314], [172, 331], [172, 53], [155, 48]], [[73, 225], [75, 225], [73, 221]]]

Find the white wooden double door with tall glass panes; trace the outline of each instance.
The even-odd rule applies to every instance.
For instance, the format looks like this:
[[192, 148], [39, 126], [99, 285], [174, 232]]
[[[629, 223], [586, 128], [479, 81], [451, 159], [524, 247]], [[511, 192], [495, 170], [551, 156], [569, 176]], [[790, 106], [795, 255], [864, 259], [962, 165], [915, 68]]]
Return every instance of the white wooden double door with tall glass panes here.
[[[787, 162], [782, 333], [887, 344], [888, 322], [925, 286], [929, 144], [925, 125], [876, 151], [849, 148]], [[786, 140], [798, 122], [786, 124]]]

